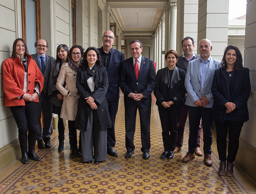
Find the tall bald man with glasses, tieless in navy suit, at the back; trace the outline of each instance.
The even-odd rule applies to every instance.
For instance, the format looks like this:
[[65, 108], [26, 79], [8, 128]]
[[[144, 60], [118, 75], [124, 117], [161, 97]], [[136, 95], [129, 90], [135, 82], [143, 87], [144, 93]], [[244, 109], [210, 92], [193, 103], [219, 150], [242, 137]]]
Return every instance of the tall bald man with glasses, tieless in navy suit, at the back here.
[[106, 98], [109, 105], [112, 127], [107, 130], [107, 153], [111, 156], [117, 156], [117, 152], [113, 147], [116, 144], [115, 120], [119, 101], [119, 70], [121, 63], [124, 61], [124, 54], [112, 48], [114, 41], [114, 33], [107, 30], [102, 36], [103, 46], [98, 49], [101, 54], [102, 63], [106, 67], [109, 81]]

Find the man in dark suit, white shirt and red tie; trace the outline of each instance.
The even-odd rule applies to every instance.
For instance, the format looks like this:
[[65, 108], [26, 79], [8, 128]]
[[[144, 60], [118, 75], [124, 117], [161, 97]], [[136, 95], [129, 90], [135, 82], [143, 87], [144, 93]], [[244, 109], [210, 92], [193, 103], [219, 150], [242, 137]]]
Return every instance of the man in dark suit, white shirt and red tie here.
[[132, 40], [130, 51], [132, 57], [121, 64], [120, 88], [124, 93], [125, 106], [125, 158], [131, 158], [134, 153], [134, 133], [136, 113], [139, 109], [140, 131], [143, 159], [150, 157], [150, 115], [151, 93], [155, 88], [155, 67], [151, 59], [141, 55], [142, 43]]

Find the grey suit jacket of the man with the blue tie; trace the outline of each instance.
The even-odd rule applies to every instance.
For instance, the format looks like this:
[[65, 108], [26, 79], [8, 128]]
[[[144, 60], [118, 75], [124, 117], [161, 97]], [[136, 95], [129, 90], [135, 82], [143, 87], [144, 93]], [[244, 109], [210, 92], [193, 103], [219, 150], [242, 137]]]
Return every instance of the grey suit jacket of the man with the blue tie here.
[[[33, 54], [31, 55], [32, 59], [34, 59], [34, 61], [37, 63], [38, 68], [40, 69], [41, 73], [44, 75], [44, 88], [43, 88], [43, 92], [46, 98], [48, 97], [48, 80], [50, 77], [50, 71], [52, 69], [52, 64], [56, 61], [53, 57], [46, 55], [45, 58], [45, 72], [42, 72], [42, 68], [41, 65], [39, 63], [37, 54]], [[40, 94], [39, 94], [40, 95]]]

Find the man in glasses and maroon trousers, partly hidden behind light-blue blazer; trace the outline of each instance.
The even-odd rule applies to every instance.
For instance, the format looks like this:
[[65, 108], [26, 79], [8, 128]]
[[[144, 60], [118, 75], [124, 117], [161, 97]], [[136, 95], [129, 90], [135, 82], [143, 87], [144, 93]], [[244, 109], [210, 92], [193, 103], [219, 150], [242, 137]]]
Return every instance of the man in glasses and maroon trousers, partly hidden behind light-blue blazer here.
[[[180, 69], [185, 70], [185, 72], [187, 72], [188, 62], [199, 58], [200, 55], [195, 54], [193, 52], [193, 50], [195, 49], [195, 43], [194, 43], [194, 39], [190, 36], [185, 37], [181, 41], [181, 46], [182, 46], [183, 54], [179, 56], [176, 66], [179, 67]], [[187, 93], [183, 98], [184, 104], [181, 105], [180, 119], [178, 123], [178, 138], [177, 138], [176, 147], [174, 149], [174, 153], [179, 151], [183, 145], [183, 135], [184, 135], [185, 124], [188, 117], [188, 107], [189, 107], [185, 105], [186, 98], [187, 98]], [[197, 145], [195, 150], [195, 154], [197, 156], [203, 155], [203, 152], [200, 149], [200, 135], [201, 135], [201, 124], [199, 125], [199, 128], [198, 128]]]

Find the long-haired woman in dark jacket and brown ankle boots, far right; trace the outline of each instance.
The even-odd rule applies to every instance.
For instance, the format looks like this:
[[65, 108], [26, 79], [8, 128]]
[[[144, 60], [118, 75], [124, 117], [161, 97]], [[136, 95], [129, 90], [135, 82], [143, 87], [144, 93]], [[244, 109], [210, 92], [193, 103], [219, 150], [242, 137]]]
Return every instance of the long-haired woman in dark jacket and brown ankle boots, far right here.
[[[242, 55], [236, 46], [226, 47], [222, 67], [215, 70], [211, 90], [214, 97], [212, 117], [216, 124], [217, 149], [221, 160], [218, 174], [233, 176], [240, 132], [244, 122], [249, 120], [247, 100], [251, 92], [249, 69], [243, 67]], [[226, 156], [227, 133], [229, 146]]]

